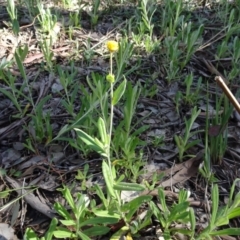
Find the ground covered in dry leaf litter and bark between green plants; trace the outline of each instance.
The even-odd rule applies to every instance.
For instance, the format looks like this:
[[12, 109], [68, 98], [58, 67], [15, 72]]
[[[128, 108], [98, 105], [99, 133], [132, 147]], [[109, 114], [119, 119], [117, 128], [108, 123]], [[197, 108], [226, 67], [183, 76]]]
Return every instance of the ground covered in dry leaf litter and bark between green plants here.
[[[43, 234], [48, 228], [50, 219], [54, 216], [50, 212], [53, 204], [57, 201], [64, 203], [62, 195], [56, 189], [65, 184], [72, 188], [73, 192], [82, 191], [79, 185], [83, 180], [77, 180], [75, 176], [77, 170], [83, 170], [87, 163], [89, 164], [88, 174], [91, 177], [86, 178], [86, 185], [94, 183], [104, 185], [101, 174], [102, 158], [91, 151], [84, 151], [84, 145], [82, 148], [74, 148], [76, 134], [73, 130], [62, 134], [59, 138], [56, 136], [59, 136], [60, 130], [66, 124], [92, 129], [91, 133], [96, 133], [94, 130], [96, 126], [92, 119], [98, 118], [99, 106], [91, 105], [96, 99], [94, 99], [93, 89], [87, 82], [87, 77], [92, 81], [92, 73], [98, 73], [102, 76], [100, 77], [102, 81], [105, 81], [109, 70], [106, 41], [109, 39], [120, 41], [127, 36], [127, 41], [133, 43], [133, 53], [125, 61], [123, 74], [133, 86], [141, 85], [137, 90], [140, 92], [141, 89], [141, 93], [133, 116], [133, 130], [146, 127], [146, 130], [142, 131], [139, 136], [144, 144], [134, 149], [134, 157], [139, 159], [141, 153], [143, 156], [141, 161], [144, 163], [142, 165], [149, 166], [149, 169], [153, 166], [153, 170], [147, 170], [145, 175], [135, 175], [134, 178], [138, 182], [142, 178], [151, 182], [154, 172], [164, 173], [165, 178], [158, 183], [158, 186], [164, 187], [169, 202], [174, 201], [176, 197], [174, 194], [177, 194], [179, 189], [188, 189], [191, 192], [191, 204], [197, 215], [196, 231], [201, 231], [209, 214], [204, 208], [205, 200], [210, 198], [211, 193], [210, 187], [206, 190], [208, 183], [198, 173], [198, 167], [204, 161], [208, 117], [217, 119], [215, 123], [210, 122], [215, 128], [210, 128], [209, 137], [222, 134], [216, 125], [223, 125], [221, 114], [224, 105], [221, 103], [217, 110], [216, 101], [224, 95], [214, 81], [214, 77], [220, 75], [227, 78], [232, 69], [233, 57], [230, 54], [217, 57], [219, 53], [217, 48], [230, 31], [226, 29], [228, 25], [221, 22], [219, 16], [221, 13], [218, 11], [221, 10], [222, 14], [229, 12], [224, 13], [222, 6], [215, 1], [198, 4], [192, 12], [190, 10], [182, 12], [182, 16], [187, 19], [186, 22], [192, 21], [196, 28], [202, 23], [204, 31], [198, 39], [201, 42], [191, 54], [189, 61], [182, 69], [179, 69], [173, 79], [170, 79], [170, 73], [173, 70], [169, 67], [171, 64], [167, 55], [169, 46], [164, 43], [166, 33], [158, 27], [162, 21], [161, 13], [164, 8], [161, 3], [156, 6], [153, 18], [153, 39], [158, 45], [149, 52], [146, 51], [142, 40], [137, 42], [132, 36], [138, 20], [132, 18], [132, 24], [129, 21], [131, 17], [136, 16], [137, 3], [118, 3], [110, 7], [103, 4], [95, 26], [91, 24], [88, 14], [91, 9], [85, 6], [82, 8], [80, 21], [76, 27], [73, 27], [70, 21], [71, 14], [75, 10], [63, 9], [60, 4], [56, 3], [49, 4], [48, 7], [58, 16], [55, 28], [56, 39], [52, 44], [53, 57], [50, 62], [46, 61], [39, 44], [41, 38], [39, 25], [37, 21], [34, 22], [33, 18], [29, 18], [27, 8], [23, 6], [18, 8], [20, 33], [17, 38], [7, 26], [10, 18], [5, 6], [4, 2], [0, 6], [0, 59], [2, 59], [2, 64], [3, 61], [13, 62], [8, 68], [1, 68], [1, 76], [6, 74], [4, 76], [8, 76], [8, 79], [12, 76], [14, 82], [11, 85], [11, 83], [6, 83], [2, 77], [0, 80], [0, 87], [3, 89], [0, 93], [0, 164], [2, 167], [0, 189], [1, 191], [15, 189], [15, 191], [0, 198], [2, 207], [0, 222], [11, 222], [20, 239], [27, 227], [33, 228], [39, 235]], [[234, 6], [232, 3], [232, 8], [234, 7], [240, 11], [239, 6]], [[239, 36], [239, 31], [232, 31], [230, 40]], [[23, 84], [21, 71], [14, 60], [16, 47], [24, 44], [28, 46], [28, 53], [23, 60], [28, 85]], [[187, 51], [184, 42], [175, 47], [173, 51], [181, 48], [183, 52]], [[178, 61], [181, 63], [184, 60], [179, 56]], [[74, 72], [72, 82], [67, 87], [69, 102], [71, 102], [69, 105], [61, 83], [59, 69], [70, 74]], [[190, 86], [192, 95], [187, 94], [184, 84], [187, 74], [190, 73], [193, 74], [193, 83]], [[238, 74], [233, 77], [230, 84], [231, 90], [236, 95], [240, 84], [239, 76]], [[198, 86], [200, 78], [201, 84]], [[121, 79], [120, 76], [119, 81]], [[13, 99], [6, 94], [6, 91], [11, 92], [13, 88], [22, 93], [15, 91], [14, 96], [19, 109]], [[74, 94], [75, 98], [71, 99]], [[177, 98], [177, 96], [180, 97]], [[194, 138], [189, 138], [189, 142], [196, 139], [200, 141], [185, 152], [184, 155], [188, 156], [183, 159], [184, 163], [181, 163], [179, 148], [174, 136], [184, 136], [186, 132], [184, 118], [191, 118], [195, 106], [201, 109], [201, 112], [194, 121], [192, 130], [201, 131], [194, 135]], [[209, 116], [206, 114], [207, 107]], [[123, 118], [123, 108], [124, 104], [121, 103], [115, 109], [115, 126]], [[86, 118], [82, 118], [84, 114]], [[240, 177], [239, 120], [239, 115], [232, 110], [225, 128], [228, 129], [228, 133], [222, 135], [223, 138], [227, 138], [226, 151], [223, 156], [219, 157], [214, 153], [211, 156], [211, 171], [220, 191], [219, 205], [226, 204], [233, 181]], [[219, 148], [222, 148], [221, 143], [216, 147], [216, 149]], [[137, 163], [139, 162], [136, 161]], [[121, 167], [119, 171], [123, 171]], [[130, 181], [130, 178], [127, 180]], [[18, 196], [25, 193], [25, 190], [21, 190], [23, 186], [35, 186], [35, 188], [32, 194], [17, 200]], [[89, 194], [93, 194], [91, 190]], [[154, 192], [151, 194], [154, 195]], [[3, 208], [14, 199], [16, 200], [14, 204]], [[149, 227], [150, 230], [148, 229], [147, 233], [144, 230], [140, 235], [145, 237], [144, 239], [150, 239], [148, 237], [156, 239], [155, 227], [157, 225], [155, 222]], [[235, 219], [230, 225], [239, 226], [239, 219]], [[239, 237], [222, 237], [222, 239], [239, 239]]]

